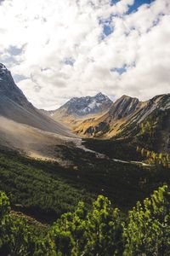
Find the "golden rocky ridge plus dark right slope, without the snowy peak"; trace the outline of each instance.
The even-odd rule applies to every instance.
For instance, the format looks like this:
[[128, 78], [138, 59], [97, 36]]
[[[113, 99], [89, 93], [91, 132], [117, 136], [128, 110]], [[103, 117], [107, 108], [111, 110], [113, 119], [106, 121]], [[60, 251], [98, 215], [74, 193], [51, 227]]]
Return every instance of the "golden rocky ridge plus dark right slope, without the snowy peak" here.
[[170, 94], [147, 102], [122, 96], [107, 113], [83, 120], [74, 131], [82, 137], [131, 138], [142, 148], [170, 152]]

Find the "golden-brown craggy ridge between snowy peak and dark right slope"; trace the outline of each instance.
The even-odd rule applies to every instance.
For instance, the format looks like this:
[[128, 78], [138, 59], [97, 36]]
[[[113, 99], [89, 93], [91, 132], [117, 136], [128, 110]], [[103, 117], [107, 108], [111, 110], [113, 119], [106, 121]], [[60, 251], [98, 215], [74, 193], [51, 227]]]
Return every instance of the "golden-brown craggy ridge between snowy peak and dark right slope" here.
[[113, 137], [134, 113], [144, 106], [137, 98], [122, 96], [99, 117], [84, 120], [75, 127], [77, 134], [85, 137]]

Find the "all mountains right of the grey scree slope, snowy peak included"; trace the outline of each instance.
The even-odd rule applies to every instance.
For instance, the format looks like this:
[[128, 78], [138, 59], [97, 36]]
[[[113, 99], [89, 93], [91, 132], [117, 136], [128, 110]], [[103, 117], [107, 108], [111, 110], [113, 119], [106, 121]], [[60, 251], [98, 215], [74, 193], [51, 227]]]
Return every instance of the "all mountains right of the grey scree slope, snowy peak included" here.
[[[130, 96], [111, 102], [99, 93], [94, 97], [72, 98], [48, 114], [70, 125], [80, 137], [133, 137], [133, 141], [138, 140], [143, 146], [150, 141], [150, 149], [170, 150], [170, 94], [155, 96], [146, 102]], [[145, 135], [141, 135], [142, 132]]]

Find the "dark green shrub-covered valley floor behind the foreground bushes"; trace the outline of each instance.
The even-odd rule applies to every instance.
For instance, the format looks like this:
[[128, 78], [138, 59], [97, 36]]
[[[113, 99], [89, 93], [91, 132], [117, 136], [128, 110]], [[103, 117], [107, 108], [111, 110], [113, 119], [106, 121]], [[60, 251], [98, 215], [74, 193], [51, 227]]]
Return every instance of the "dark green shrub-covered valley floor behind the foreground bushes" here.
[[[84, 145], [90, 149], [86, 151], [73, 143], [56, 145], [55, 154], [67, 165], [34, 160], [1, 148], [0, 190], [7, 193], [15, 211], [51, 223], [62, 213], [72, 211], [78, 201], [89, 205], [97, 195], [107, 196], [114, 206], [127, 212], [136, 201], [170, 183], [169, 169], [131, 164], [130, 160], [141, 161], [139, 154], [134, 155], [133, 150], [129, 153], [131, 145], [110, 142], [108, 147], [107, 143], [87, 140]], [[96, 146], [99, 153], [94, 154]]]

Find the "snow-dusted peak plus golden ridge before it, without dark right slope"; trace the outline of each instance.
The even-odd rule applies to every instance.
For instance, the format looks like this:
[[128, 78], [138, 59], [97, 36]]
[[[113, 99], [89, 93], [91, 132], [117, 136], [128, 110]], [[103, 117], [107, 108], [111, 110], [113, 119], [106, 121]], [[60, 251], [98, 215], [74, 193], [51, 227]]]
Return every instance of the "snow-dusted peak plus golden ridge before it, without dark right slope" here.
[[111, 102], [101, 92], [96, 96], [75, 97], [54, 111], [41, 110], [53, 119], [71, 126], [81, 137], [113, 137], [134, 113], [147, 102], [130, 96], [122, 96]]

